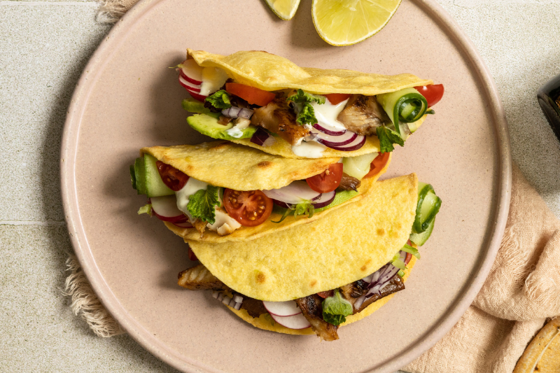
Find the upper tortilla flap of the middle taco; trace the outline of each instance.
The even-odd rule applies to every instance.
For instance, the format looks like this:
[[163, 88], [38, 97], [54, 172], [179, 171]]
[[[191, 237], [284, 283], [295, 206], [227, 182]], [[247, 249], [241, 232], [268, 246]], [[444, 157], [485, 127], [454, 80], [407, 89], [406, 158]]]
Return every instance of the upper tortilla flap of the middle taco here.
[[229, 141], [198, 145], [152, 146], [141, 154], [153, 155], [204, 183], [235, 190], [282, 188], [295, 180], [321, 174], [339, 157], [296, 160], [264, 153]]

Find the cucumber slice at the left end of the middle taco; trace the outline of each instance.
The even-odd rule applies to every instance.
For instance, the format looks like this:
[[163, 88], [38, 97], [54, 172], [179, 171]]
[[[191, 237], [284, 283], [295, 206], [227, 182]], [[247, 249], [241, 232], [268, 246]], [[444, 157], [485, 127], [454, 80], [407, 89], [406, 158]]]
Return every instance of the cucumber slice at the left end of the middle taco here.
[[139, 157], [134, 162], [134, 176], [131, 167], [132, 188], [136, 187], [139, 195], [162, 197], [175, 194], [163, 183], [158, 167], [155, 165], [157, 161], [152, 155], [144, 154], [144, 157]]

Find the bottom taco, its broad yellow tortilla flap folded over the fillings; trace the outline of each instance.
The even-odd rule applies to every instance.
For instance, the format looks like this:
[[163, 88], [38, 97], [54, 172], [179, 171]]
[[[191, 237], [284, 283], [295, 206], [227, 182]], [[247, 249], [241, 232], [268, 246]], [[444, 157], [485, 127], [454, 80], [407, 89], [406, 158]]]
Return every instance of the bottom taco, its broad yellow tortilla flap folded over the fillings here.
[[[246, 242], [186, 239], [201, 264], [181, 272], [179, 285], [213, 290], [257, 328], [338, 339], [339, 325], [405, 288], [441, 204], [428, 184], [417, 192], [415, 174], [363, 184], [362, 199], [306, 225]], [[418, 224], [431, 228], [416, 232]]]

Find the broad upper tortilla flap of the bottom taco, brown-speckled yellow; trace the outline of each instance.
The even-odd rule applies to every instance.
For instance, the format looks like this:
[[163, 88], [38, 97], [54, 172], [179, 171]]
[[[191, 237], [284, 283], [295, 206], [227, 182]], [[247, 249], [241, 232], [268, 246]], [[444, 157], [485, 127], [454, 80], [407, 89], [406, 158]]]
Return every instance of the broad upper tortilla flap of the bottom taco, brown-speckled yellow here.
[[259, 239], [185, 241], [211, 274], [248, 297], [280, 302], [338, 288], [389, 262], [412, 230], [416, 174], [367, 188], [362, 199], [336, 213]]

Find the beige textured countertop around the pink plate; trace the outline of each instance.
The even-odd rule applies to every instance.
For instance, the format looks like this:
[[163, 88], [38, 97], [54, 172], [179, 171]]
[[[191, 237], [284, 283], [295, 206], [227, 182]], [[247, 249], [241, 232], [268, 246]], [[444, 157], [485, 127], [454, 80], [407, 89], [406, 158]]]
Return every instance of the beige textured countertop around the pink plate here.
[[[514, 161], [560, 216], [560, 143], [535, 98], [560, 73], [560, 0], [440, 3], [496, 80]], [[95, 21], [97, 6], [0, 1], [0, 372], [176, 372], [126, 335], [94, 336], [61, 294], [72, 248], [60, 141], [73, 87], [111, 28]]]

